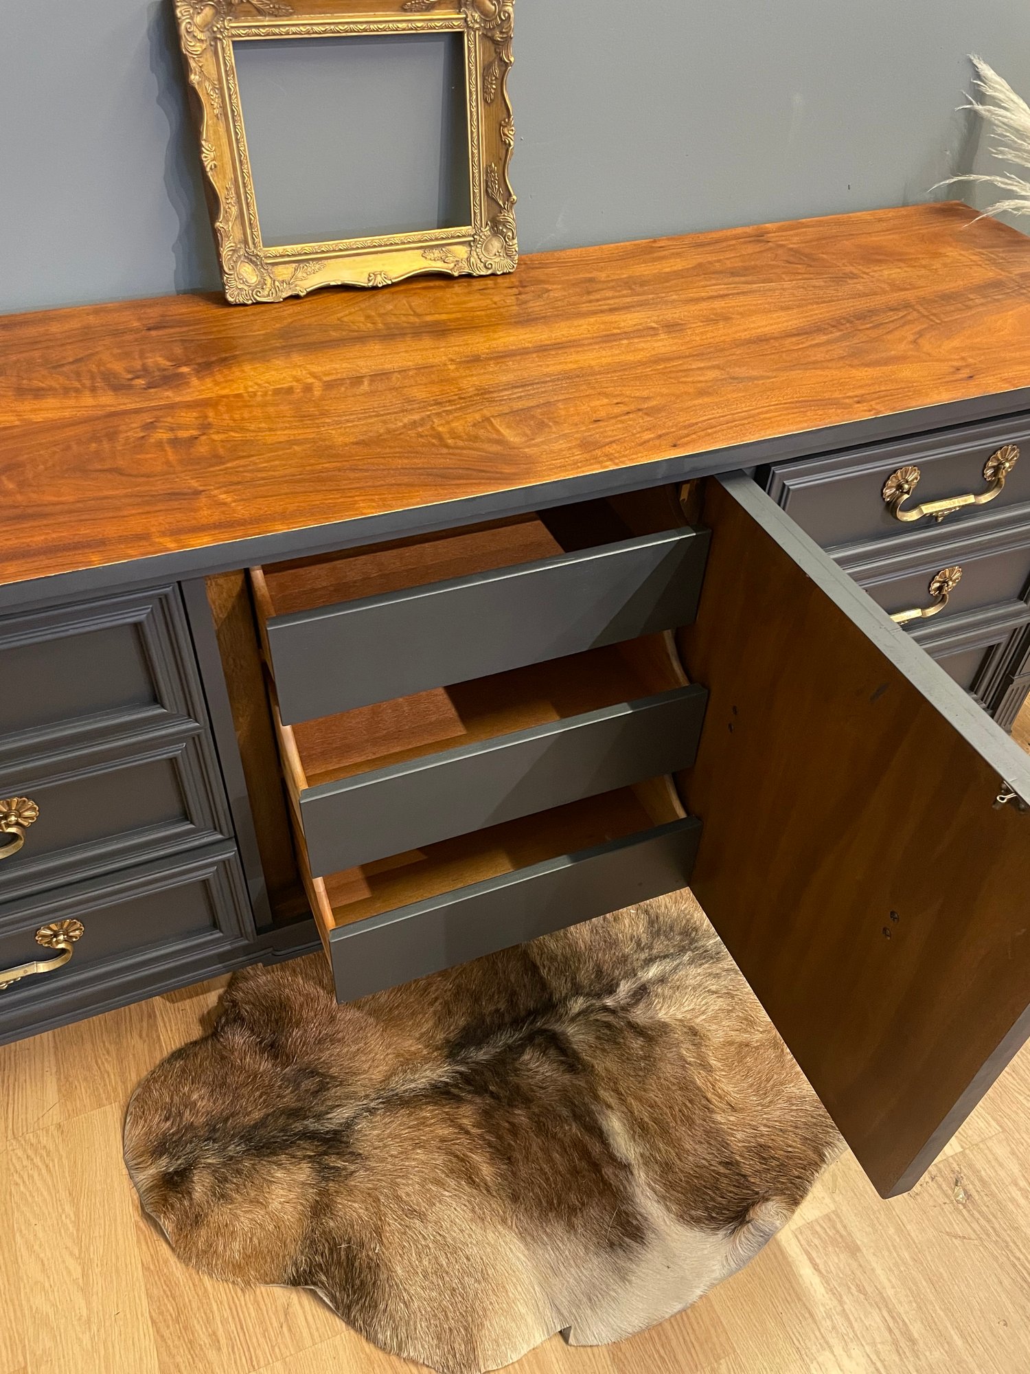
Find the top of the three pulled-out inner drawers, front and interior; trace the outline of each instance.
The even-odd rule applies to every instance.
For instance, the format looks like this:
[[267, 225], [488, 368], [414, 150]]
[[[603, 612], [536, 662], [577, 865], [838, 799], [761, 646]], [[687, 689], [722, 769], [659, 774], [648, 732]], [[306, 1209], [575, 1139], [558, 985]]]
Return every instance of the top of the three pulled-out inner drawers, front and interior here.
[[703, 530], [633, 534], [596, 502], [253, 569], [282, 720], [687, 625], [706, 551]]

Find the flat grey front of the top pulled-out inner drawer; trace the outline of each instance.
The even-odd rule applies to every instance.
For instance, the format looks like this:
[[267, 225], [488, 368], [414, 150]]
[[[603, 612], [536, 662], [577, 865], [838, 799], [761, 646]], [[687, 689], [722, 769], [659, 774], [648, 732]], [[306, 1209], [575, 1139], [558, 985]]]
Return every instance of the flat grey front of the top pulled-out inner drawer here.
[[707, 547], [706, 530], [676, 529], [275, 617], [283, 723], [687, 625]]

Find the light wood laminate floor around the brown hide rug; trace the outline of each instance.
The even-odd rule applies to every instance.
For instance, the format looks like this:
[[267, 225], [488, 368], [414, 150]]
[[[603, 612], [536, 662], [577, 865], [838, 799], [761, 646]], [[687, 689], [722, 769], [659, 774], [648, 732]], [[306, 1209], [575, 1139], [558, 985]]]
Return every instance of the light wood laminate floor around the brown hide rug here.
[[[1030, 747], [1030, 712], [1018, 738]], [[181, 1265], [121, 1162], [135, 1083], [218, 984], [0, 1048], [0, 1374], [401, 1374], [317, 1298]], [[1025, 1374], [1030, 1047], [906, 1197], [850, 1157], [736, 1278], [618, 1347], [555, 1338], [518, 1374]]]

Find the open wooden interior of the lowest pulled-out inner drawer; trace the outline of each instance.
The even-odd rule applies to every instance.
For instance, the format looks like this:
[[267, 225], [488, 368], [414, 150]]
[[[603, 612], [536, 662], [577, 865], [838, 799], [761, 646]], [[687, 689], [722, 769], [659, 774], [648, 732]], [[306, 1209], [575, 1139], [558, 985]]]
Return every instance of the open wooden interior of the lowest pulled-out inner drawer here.
[[319, 927], [328, 941], [331, 932], [342, 926], [549, 859], [643, 835], [684, 816], [672, 779], [655, 778], [327, 878], [305, 877]]

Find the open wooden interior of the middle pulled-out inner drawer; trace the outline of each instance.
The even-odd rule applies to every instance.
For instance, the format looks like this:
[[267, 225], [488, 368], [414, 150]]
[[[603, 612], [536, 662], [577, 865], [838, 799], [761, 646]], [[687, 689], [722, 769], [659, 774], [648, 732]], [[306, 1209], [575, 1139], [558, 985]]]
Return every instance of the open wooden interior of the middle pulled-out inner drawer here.
[[295, 793], [688, 686], [672, 633], [283, 725]]

